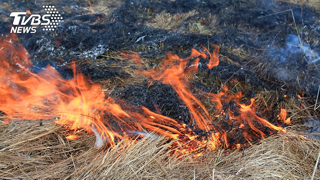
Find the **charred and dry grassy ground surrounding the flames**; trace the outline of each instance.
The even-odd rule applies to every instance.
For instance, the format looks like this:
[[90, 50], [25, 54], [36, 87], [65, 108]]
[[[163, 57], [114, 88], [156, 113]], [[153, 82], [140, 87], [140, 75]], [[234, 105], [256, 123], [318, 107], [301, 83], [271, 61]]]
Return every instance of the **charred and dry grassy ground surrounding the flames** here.
[[[320, 16], [317, 1], [3, 1], [2, 34], [10, 31], [11, 12], [42, 14], [42, 5], [55, 5], [64, 20], [54, 31], [18, 34], [35, 72], [50, 64], [71, 78], [72, 71], [63, 67], [75, 61], [107, 96], [173, 119], [189, 119], [171, 86], [150, 85], [137, 75], [139, 65], [120, 52], [137, 52], [143, 69], [150, 70], [159, 68], [167, 53], [185, 58], [192, 48], [200, 51], [201, 45], [212, 43], [220, 46], [220, 64], [209, 70], [201, 59], [198, 72], [189, 77], [193, 91], [218, 93], [226, 84], [231, 93], [241, 91], [245, 103], [255, 98], [257, 112], [273, 123], [279, 123], [281, 108], [287, 110], [293, 126], [287, 128], [294, 132], [307, 131], [306, 122], [319, 122], [320, 25], [311, 28]], [[280, 133], [248, 150], [206, 151], [189, 162], [188, 155], [167, 156], [163, 142], [168, 141], [157, 136], [129, 149], [124, 148], [127, 142], [120, 143], [103, 153], [92, 135], [70, 141], [51, 121], [38, 124], [1, 125], [1, 177], [303, 179], [312, 176], [320, 147], [318, 140]]]

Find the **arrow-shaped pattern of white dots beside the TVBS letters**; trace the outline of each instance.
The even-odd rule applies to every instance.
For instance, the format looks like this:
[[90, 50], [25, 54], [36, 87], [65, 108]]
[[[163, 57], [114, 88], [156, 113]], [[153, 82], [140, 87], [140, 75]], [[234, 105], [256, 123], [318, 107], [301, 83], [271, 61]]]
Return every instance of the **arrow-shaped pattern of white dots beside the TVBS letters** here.
[[50, 24], [47, 26], [44, 26], [44, 28], [42, 29], [43, 31], [54, 31], [55, 28], [57, 28], [57, 25], [59, 25], [58, 22], [61, 22], [62, 17], [61, 14], [59, 14], [59, 11], [57, 11], [56, 8], [54, 8], [54, 6], [50, 5], [50, 6], [42, 6], [42, 8], [44, 8], [44, 11], [47, 14], [50, 14]]

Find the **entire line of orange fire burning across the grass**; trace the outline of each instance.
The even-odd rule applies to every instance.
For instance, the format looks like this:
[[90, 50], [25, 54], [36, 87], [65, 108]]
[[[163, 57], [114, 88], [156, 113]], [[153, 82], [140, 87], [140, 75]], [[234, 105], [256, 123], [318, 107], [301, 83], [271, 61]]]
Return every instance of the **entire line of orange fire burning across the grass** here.
[[[206, 53], [209, 54], [206, 65], [209, 69], [219, 64], [217, 45], [212, 45], [212, 53], [205, 47], [203, 52], [192, 49], [187, 58], [168, 54], [161, 69], [140, 72], [142, 76], [173, 87], [190, 111], [190, 119], [185, 124], [187, 121], [178, 122], [145, 107], [132, 110], [127, 103], [115, 101], [103, 92], [99, 84], [77, 73], [75, 63], [68, 64], [74, 72], [71, 79], [62, 78], [49, 65], [34, 73], [30, 56], [16, 35], [2, 37], [0, 42], [3, 62], [0, 65], [0, 110], [7, 115], [7, 120], [55, 119], [56, 124], [70, 130], [66, 136], [69, 140], [77, 139], [79, 129], [84, 129], [96, 135], [97, 147], [100, 148], [105, 144], [114, 146], [118, 140], [128, 136], [143, 137], [154, 131], [176, 140], [177, 153], [190, 153], [204, 148], [213, 150], [221, 144], [235, 148], [244, 143], [252, 144], [254, 139], [266, 136], [266, 131], [260, 128], [268, 128], [270, 132], [284, 131], [283, 127], [257, 115], [254, 99], [246, 105], [241, 102], [241, 93], [228, 93], [228, 86], [218, 94], [200, 90], [198, 95], [192, 93], [188, 78], [197, 72], [199, 61], [208, 58]], [[137, 53], [122, 54], [142, 65]], [[200, 96], [208, 99], [213, 108], [207, 109]], [[284, 112], [281, 110], [279, 119], [286, 118]], [[288, 119], [284, 122], [290, 123]], [[240, 134], [246, 142], [239, 140], [237, 132], [242, 132]], [[233, 136], [237, 138], [232, 140]]]

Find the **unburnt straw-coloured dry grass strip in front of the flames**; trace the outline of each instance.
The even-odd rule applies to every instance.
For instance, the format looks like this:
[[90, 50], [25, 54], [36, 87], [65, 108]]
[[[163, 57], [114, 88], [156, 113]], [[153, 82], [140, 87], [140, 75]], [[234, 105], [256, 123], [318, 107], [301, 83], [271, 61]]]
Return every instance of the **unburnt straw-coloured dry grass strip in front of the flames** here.
[[178, 158], [168, 155], [169, 141], [152, 134], [101, 152], [94, 136], [82, 133], [69, 141], [51, 121], [41, 127], [12, 121], [0, 129], [2, 179], [310, 179], [320, 149], [319, 140], [279, 133], [244, 152], [219, 149]]

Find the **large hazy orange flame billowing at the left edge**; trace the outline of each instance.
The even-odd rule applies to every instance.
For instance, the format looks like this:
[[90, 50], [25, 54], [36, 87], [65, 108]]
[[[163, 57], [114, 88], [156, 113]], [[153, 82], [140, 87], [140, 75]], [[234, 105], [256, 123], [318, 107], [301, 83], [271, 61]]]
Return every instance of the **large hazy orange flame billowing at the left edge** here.
[[[5, 114], [28, 120], [59, 117], [55, 122], [68, 125], [70, 130], [85, 128], [88, 132], [98, 132], [105, 140], [112, 140], [112, 133], [98, 113], [99, 107], [105, 105], [100, 85], [82, 74], [65, 80], [50, 66], [34, 74], [28, 52], [15, 35], [1, 42], [0, 109]], [[74, 64], [71, 67], [75, 72]]]

